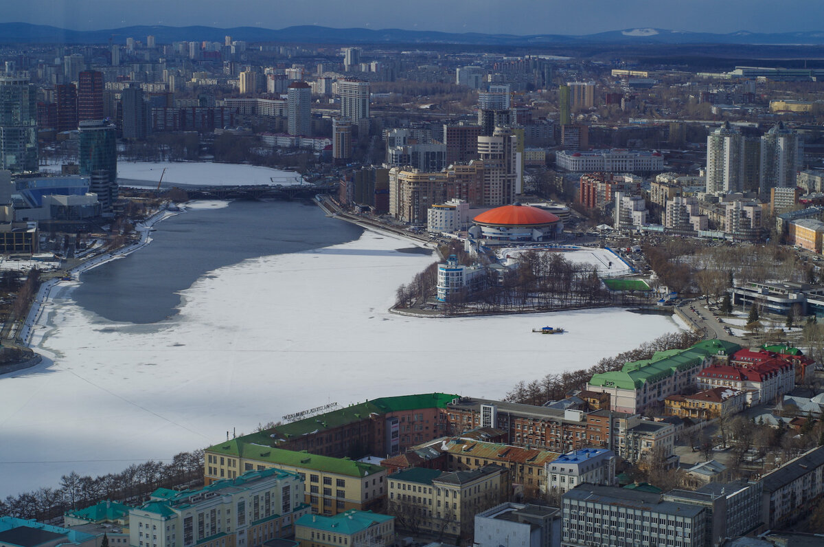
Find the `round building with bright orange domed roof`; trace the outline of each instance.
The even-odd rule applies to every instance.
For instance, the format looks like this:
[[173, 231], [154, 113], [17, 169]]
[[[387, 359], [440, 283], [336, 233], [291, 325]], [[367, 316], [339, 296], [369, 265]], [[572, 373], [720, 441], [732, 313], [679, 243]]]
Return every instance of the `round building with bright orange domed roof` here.
[[552, 241], [560, 236], [564, 224], [549, 211], [529, 205], [503, 205], [485, 211], [473, 220], [470, 233], [487, 241]]

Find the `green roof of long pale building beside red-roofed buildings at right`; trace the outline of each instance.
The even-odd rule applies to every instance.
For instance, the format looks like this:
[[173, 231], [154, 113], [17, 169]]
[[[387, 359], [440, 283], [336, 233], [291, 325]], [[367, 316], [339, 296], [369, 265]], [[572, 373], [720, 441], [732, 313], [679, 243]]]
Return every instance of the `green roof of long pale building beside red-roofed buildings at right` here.
[[732, 355], [741, 349], [736, 343], [724, 340], [704, 340], [686, 350], [656, 351], [651, 359], [625, 363], [621, 370], [613, 370], [592, 376], [589, 384], [618, 389], [640, 389], [646, 382], [657, 382], [679, 370], [689, 370], [700, 365], [709, 356], [719, 353]]

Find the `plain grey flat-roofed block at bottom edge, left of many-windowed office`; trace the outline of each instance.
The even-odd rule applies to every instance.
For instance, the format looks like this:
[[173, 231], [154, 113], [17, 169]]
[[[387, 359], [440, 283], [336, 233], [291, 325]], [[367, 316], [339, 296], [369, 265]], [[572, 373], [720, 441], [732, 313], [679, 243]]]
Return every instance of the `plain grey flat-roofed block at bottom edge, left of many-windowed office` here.
[[475, 515], [478, 547], [559, 547], [560, 510], [542, 505], [505, 502]]

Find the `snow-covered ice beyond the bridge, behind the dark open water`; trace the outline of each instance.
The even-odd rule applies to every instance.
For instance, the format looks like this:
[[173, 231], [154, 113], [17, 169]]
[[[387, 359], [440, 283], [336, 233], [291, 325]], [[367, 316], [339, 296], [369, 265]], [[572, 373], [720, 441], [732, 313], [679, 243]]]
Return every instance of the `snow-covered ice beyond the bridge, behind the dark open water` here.
[[117, 177], [131, 181], [160, 181], [163, 184], [189, 184], [195, 186], [256, 186], [282, 184], [284, 186], [302, 184], [297, 172], [280, 171], [270, 167], [238, 163], [204, 162], [118, 162]]

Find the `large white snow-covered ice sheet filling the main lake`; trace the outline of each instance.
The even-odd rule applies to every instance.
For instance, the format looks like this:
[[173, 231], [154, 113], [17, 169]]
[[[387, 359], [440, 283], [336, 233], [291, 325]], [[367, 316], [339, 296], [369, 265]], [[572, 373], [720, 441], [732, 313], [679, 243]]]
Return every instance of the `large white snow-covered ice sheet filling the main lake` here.
[[[172, 220], [173, 222], [173, 220]], [[500, 398], [519, 380], [588, 367], [677, 330], [620, 309], [475, 318], [390, 314], [433, 257], [365, 232], [316, 251], [209, 272], [180, 314], [110, 323], [52, 290], [33, 346], [49, 359], [0, 377], [0, 497], [168, 459], [236, 428], [336, 401], [442, 391]], [[536, 336], [545, 324], [561, 336]]]

